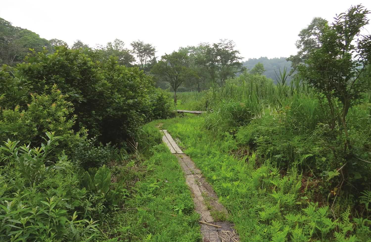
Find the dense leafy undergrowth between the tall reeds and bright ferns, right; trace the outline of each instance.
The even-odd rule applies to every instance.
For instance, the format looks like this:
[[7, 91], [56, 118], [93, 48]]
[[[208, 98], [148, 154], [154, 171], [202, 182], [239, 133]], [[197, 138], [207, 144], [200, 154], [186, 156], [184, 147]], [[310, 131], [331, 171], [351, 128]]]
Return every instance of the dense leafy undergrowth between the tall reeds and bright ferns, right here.
[[[290, 112], [292, 109], [289, 107], [278, 111], [266, 109], [261, 117], [238, 129], [237, 143], [240, 146], [253, 147], [257, 154], [275, 162], [279, 169], [295, 167], [303, 172], [310, 171], [323, 179], [334, 178], [332, 172], [348, 163], [348, 169], [343, 172], [348, 181], [348, 188], [357, 186], [359, 189], [369, 189], [370, 181], [367, 177], [370, 165], [356, 158], [371, 158], [370, 154], [365, 152], [371, 145], [368, 132], [353, 129], [353, 150], [344, 152], [341, 126], [336, 125], [332, 129], [330, 125], [318, 122], [311, 132], [302, 132], [301, 129], [308, 130], [310, 127], [298, 126], [297, 117], [292, 116]], [[336, 173], [336, 176], [336, 179], [342, 179], [340, 173]], [[326, 186], [331, 188], [334, 185], [327, 183]]]

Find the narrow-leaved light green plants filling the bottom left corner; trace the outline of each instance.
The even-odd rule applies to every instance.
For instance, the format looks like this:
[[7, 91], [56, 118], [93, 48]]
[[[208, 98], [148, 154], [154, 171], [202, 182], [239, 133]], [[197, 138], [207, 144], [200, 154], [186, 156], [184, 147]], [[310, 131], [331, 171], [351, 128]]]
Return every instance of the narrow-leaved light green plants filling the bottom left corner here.
[[98, 233], [96, 221], [86, 219], [95, 207], [79, 189], [76, 166], [48, 155], [61, 137], [47, 136], [41, 147], [8, 140], [0, 148], [1, 241], [89, 241]]

